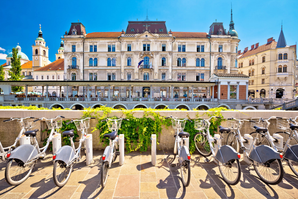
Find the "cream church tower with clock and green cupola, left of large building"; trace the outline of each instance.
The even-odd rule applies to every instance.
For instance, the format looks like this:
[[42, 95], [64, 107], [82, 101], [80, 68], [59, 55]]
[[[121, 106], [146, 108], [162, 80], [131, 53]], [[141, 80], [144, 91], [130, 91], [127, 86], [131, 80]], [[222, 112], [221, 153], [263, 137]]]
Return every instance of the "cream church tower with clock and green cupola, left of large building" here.
[[49, 48], [42, 36], [41, 25], [39, 25], [38, 37], [32, 45], [32, 70], [48, 65], [49, 62]]

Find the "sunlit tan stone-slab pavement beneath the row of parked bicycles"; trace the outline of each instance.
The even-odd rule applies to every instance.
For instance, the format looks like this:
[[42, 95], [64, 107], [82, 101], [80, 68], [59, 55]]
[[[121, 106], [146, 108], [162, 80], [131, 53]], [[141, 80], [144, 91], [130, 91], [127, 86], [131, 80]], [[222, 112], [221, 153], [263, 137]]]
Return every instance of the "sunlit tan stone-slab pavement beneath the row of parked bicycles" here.
[[240, 182], [229, 186], [214, 162], [205, 163], [197, 152], [192, 155], [190, 185], [183, 187], [180, 167], [170, 167], [173, 151], [158, 150], [156, 166], [149, 152], [125, 154], [124, 165], [112, 164], [108, 181], [100, 185], [103, 150], [94, 150], [94, 163], [86, 166], [85, 156], [77, 163], [66, 186], [58, 188], [52, 179], [51, 153], [36, 164], [31, 176], [19, 186], [4, 179], [6, 161], [0, 163], [0, 198], [298, 198], [298, 178], [284, 165], [283, 181], [268, 186], [259, 180], [253, 166], [240, 161]]

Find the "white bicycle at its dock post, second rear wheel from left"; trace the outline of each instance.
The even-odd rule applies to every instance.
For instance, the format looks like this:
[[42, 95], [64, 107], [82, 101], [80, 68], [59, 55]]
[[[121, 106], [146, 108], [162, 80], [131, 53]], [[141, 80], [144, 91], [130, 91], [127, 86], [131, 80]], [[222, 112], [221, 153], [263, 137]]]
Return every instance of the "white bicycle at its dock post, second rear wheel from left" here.
[[[72, 168], [75, 163], [80, 162], [81, 159], [81, 149], [85, 150], [86, 154], [86, 165], [92, 163], [93, 153], [92, 153], [92, 134], [87, 133], [89, 128], [89, 120], [95, 119], [95, 117], [86, 117], [79, 120], [72, 120], [67, 124], [72, 122], [75, 123], [77, 130], [82, 131], [79, 146], [76, 149], [72, 138], [75, 136], [74, 130], [64, 131], [62, 136], [69, 137], [71, 146], [65, 145], [61, 147], [57, 153], [53, 154], [54, 169], [53, 169], [53, 179], [54, 183], [58, 187], [64, 186], [72, 173]], [[82, 143], [84, 147], [82, 147]]]

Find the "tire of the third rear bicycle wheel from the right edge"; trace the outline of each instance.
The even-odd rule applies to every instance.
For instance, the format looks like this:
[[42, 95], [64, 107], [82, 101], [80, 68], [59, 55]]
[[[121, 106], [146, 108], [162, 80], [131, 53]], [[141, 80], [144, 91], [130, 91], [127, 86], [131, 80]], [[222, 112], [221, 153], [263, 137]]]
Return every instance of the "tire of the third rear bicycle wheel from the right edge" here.
[[[237, 172], [237, 175], [236, 175], [236, 177], [235, 177], [235, 179], [228, 179], [227, 178], [227, 175], [226, 174], [224, 174], [224, 172], [223, 172], [223, 170], [222, 170], [222, 167], [221, 166], [224, 166], [223, 164], [221, 165], [221, 162], [219, 162], [219, 164], [218, 164], [218, 169], [219, 169], [219, 172], [221, 173], [221, 176], [223, 177], [223, 179], [224, 179], [224, 181], [227, 183], [227, 184], [229, 184], [229, 185], [236, 185], [236, 184], [238, 184], [238, 182], [240, 181], [240, 177], [241, 177], [241, 169], [240, 169], [240, 162], [239, 162], [239, 160], [237, 160], [237, 159], [233, 159], [233, 160], [229, 160], [229, 162], [228, 163], [226, 163], [226, 166], [224, 166], [224, 167], [226, 167], [227, 169], [231, 169], [232, 168], [232, 164], [233, 163], [235, 163], [236, 162], [236, 166], [237, 166], [237, 168], [236, 169], [234, 169], [234, 171], [231, 171], [231, 172], [228, 172], [229, 174], [232, 174], [232, 173], [235, 173], [235, 172]], [[231, 175], [230, 175], [231, 176]]]

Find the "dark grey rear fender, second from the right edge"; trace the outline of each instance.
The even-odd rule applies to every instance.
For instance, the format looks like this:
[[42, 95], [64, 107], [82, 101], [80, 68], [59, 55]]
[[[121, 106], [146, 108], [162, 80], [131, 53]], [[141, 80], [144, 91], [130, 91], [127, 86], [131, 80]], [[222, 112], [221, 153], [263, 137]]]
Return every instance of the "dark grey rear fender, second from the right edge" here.
[[[260, 156], [261, 160], [258, 155]], [[265, 163], [271, 159], [281, 160], [279, 153], [267, 145], [260, 145], [252, 149], [249, 158], [258, 163]]]

